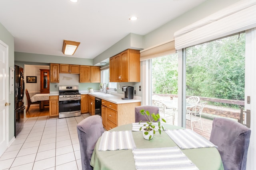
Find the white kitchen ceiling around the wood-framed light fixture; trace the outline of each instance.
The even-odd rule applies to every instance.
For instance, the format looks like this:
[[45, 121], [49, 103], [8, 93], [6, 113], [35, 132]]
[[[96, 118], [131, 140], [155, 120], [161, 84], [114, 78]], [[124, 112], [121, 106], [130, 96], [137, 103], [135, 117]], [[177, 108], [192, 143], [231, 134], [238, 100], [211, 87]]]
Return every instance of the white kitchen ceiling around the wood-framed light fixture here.
[[[0, 23], [14, 36], [14, 51], [66, 56], [66, 39], [80, 42], [73, 57], [93, 59], [129, 33], [146, 35], [204, 1], [0, 0]], [[129, 20], [133, 15], [138, 20]]]

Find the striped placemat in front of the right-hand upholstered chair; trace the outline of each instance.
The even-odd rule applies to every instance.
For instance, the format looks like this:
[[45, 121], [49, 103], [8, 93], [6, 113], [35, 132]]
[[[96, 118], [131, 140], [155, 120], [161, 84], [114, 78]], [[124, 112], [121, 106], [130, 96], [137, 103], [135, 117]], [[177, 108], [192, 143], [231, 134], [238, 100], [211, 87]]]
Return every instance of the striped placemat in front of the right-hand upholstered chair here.
[[181, 149], [216, 147], [190, 129], [167, 130], [165, 132]]

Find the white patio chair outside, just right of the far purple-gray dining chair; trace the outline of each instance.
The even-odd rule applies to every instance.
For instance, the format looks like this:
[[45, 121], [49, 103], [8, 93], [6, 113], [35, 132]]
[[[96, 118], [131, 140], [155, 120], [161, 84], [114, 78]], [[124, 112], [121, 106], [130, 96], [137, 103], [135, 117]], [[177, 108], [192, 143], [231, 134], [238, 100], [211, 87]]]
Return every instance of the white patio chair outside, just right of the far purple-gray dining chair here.
[[173, 108], [167, 108], [165, 104], [158, 100], [152, 100], [152, 106], [157, 106], [159, 108], [159, 115], [160, 117], [163, 117], [164, 119], [168, 119], [172, 117], [172, 124], [174, 125], [174, 109]]

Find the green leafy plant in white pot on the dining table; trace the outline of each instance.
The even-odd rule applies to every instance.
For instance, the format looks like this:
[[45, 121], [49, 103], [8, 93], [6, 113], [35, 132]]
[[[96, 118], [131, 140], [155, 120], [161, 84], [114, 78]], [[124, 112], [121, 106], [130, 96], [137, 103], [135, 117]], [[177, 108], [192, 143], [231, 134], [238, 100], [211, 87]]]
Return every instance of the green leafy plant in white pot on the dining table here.
[[[161, 125], [160, 121], [157, 121], [158, 119], [160, 119], [159, 113], [157, 114], [152, 113], [150, 115], [150, 112], [145, 111], [144, 109], [140, 110], [140, 113], [142, 115], [145, 115], [147, 119], [147, 121], [144, 122], [145, 124], [142, 127], [140, 127], [140, 131], [142, 130], [144, 139], [151, 140], [153, 138], [153, 135], [156, 133], [156, 129], [155, 129], [156, 127], [158, 127], [158, 132], [161, 135], [161, 128], [162, 130], [164, 130], [164, 127]], [[162, 119], [162, 121], [166, 123], [165, 119]], [[139, 124], [140, 123], [141, 121], [139, 122]]]

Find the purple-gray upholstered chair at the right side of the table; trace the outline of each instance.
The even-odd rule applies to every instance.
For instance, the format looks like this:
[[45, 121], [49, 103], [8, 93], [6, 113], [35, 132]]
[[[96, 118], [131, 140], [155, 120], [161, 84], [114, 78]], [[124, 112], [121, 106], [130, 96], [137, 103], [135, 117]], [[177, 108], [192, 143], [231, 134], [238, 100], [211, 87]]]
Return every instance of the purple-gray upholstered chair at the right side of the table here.
[[222, 117], [214, 118], [210, 141], [218, 147], [225, 170], [246, 170], [251, 130]]

